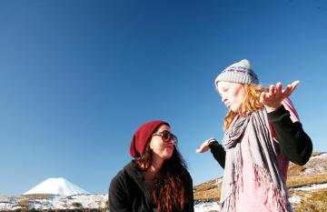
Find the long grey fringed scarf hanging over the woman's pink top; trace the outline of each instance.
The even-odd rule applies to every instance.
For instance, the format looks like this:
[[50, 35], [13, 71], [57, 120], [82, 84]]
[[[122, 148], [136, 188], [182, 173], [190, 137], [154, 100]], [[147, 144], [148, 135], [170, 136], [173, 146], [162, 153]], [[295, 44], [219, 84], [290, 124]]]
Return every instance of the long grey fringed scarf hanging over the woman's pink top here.
[[243, 160], [241, 142], [249, 146], [253, 170], [257, 185], [263, 187], [264, 197], [272, 189], [277, 197], [278, 211], [292, 211], [287, 200], [287, 188], [284, 186], [273, 138], [269, 129], [267, 112], [264, 108], [249, 113], [248, 116], [235, 116], [229, 129], [223, 136], [226, 148], [223, 187], [221, 194], [221, 211], [235, 211], [235, 203], [243, 187]]

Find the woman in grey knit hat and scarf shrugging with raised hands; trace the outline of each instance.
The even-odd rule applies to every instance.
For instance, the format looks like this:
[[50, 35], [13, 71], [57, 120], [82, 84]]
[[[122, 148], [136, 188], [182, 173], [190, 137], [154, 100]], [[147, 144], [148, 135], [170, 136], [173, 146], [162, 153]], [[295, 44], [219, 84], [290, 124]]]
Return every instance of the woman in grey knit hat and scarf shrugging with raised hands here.
[[300, 82], [263, 88], [249, 61], [241, 60], [214, 83], [228, 107], [223, 146], [210, 138], [196, 151], [210, 149], [224, 168], [221, 211], [292, 211], [289, 161], [304, 165], [312, 154], [312, 141], [288, 98]]

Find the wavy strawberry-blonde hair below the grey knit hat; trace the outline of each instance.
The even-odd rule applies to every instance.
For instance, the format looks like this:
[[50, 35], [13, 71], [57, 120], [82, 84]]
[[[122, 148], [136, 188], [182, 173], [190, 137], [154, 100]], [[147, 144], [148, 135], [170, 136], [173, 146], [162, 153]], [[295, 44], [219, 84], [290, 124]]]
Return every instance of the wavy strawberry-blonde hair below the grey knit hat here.
[[223, 130], [227, 130], [231, 125], [233, 118], [236, 115], [246, 116], [248, 112], [254, 112], [260, 109], [263, 104], [260, 102], [260, 95], [263, 92], [263, 86], [258, 84], [244, 85], [245, 96], [242, 105], [239, 107], [237, 113], [233, 112], [231, 109], [227, 112], [223, 121]]

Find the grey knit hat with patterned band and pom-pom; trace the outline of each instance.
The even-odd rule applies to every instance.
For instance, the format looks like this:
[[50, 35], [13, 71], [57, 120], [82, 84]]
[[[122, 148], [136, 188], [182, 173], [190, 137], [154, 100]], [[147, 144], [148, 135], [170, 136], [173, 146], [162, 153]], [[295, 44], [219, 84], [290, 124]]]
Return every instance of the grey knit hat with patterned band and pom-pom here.
[[258, 76], [253, 72], [250, 62], [246, 59], [223, 69], [222, 73], [215, 78], [214, 85], [217, 86], [220, 81], [248, 85], [259, 84]]

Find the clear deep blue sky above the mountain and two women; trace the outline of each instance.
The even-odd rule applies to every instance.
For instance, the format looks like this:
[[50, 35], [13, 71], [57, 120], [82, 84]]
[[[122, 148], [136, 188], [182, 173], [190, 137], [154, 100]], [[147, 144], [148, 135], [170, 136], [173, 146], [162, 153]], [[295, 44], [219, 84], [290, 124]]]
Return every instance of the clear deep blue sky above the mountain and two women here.
[[325, 1], [0, 1], [0, 195], [48, 177], [106, 193], [153, 119], [194, 185], [221, 176], [195, 149], [222, 138], [213, 80], [243, 58], [263, 86], [301, 80], [292, 101], [327, 151], [326, 49]]

